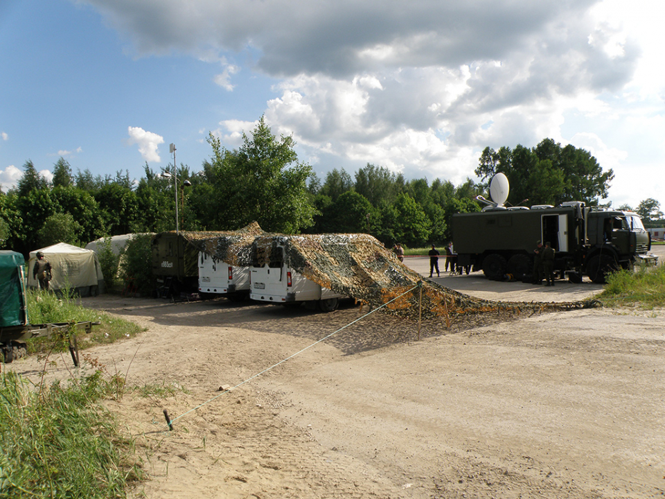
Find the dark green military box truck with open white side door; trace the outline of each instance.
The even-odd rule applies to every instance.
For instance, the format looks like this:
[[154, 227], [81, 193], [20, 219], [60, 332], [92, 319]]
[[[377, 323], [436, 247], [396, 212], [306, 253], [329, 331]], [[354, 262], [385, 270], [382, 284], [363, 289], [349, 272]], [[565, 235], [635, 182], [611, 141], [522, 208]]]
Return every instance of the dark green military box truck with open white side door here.
[[555, 272], [581, 282], [604, 283], [608, 272], [636, 261], [656, 263], [651, 239], [637, 213], [586, 207], [583, 202], [503, 207], [452, 216], [457, 265], [482, 270], [488, 279], [530, 280], [538, 240], [556, 250]]

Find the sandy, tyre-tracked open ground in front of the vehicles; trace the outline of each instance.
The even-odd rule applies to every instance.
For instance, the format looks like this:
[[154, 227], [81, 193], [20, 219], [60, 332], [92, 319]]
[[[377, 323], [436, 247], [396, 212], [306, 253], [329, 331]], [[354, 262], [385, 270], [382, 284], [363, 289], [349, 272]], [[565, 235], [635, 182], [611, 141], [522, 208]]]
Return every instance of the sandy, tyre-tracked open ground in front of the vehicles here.
[[[429, 275], [427, 259], [406, 263]], [[504, 301], [601, 289], [438, 281]], [[330, 314], [225, 299], [83, 304], [145, 327], [85, 351], [80, 368], [153, 392], [108, 403], [148, 473], [132, 498], [665, 496], [663, 310], [427, 322], [418, 340], [418, 324], [382, 313], [338, 331], [367, 312], [352, 303]], [[69, 358], [51, 360], [48, 380], [69, 376]], [[4, 366], [32, 378], [43, 367]]]

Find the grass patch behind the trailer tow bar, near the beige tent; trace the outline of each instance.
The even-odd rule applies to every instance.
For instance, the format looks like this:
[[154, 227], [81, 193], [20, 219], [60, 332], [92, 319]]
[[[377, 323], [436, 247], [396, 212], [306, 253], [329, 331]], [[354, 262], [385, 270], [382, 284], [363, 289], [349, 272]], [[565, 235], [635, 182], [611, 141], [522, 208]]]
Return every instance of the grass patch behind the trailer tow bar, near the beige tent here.
[[[43, 292], [28, 290], [28, 319], [30, 324], [55, 324], [58, 322], [101, 322], [94, 326], [89, 335], [78, 335], [79, 347], [85, 349], [95, 344], [112, 343], [123, 338], [131, 338], [141, 331], [133, 322], [113, 317], [99, 310], [84, 308], [76, 302], [71, 292]], [[31, 352], [51, 348], [47, 338], [36, 338], [28, 342]], [[48, 345], [48, 347], [47, 347]], [[60, 347], [58, 347], [60, 349]]]

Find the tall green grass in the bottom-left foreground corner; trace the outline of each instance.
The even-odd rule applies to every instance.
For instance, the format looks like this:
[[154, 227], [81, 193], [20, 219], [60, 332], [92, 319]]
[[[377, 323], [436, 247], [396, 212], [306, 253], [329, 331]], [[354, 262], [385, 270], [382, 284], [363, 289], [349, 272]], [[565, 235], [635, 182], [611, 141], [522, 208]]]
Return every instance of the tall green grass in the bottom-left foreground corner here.
[[0, 374], [0, 498], [125, 497], [141, 470], [125, 462], [132, 442], [98, 404], [109, 389], [100, 371], [37, 392]]

